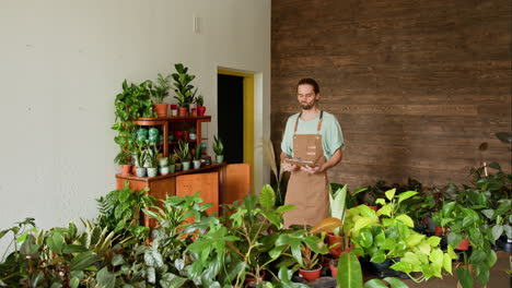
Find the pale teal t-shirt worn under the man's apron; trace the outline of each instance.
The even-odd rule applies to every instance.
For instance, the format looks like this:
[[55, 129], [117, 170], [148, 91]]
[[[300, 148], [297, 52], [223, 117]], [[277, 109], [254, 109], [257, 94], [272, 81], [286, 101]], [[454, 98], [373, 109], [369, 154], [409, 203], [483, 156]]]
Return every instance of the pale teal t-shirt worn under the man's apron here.
[[[293, 129], [295, 128], [295, 120], [299, 113], [295, 113], [288, 118], [287, 127], [284, 129], [284, 135], [282, 135], [281, 149], [290, 156], [293, 155]], [[298, 134], [316, 134], [318, 127], [319, 115], [312, 120], [299, 119], [299, 125], [296, 127]], [[338, 119], [329, 112], [324, 111], [322, 121], [322, 147], [324, 148], [325, 158], [328, 160], [333, 157], [334, 153], [341, 148], [345, 151], [344, 132], [339, 125]]]

